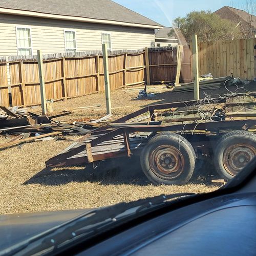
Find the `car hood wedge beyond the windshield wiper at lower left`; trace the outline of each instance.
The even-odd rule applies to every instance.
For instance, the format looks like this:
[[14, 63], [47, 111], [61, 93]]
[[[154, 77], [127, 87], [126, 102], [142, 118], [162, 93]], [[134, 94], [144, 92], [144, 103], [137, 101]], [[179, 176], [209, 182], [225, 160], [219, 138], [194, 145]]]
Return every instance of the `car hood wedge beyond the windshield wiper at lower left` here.
[[0, 250], [69, 221], [90, 209], [0, 215]]

